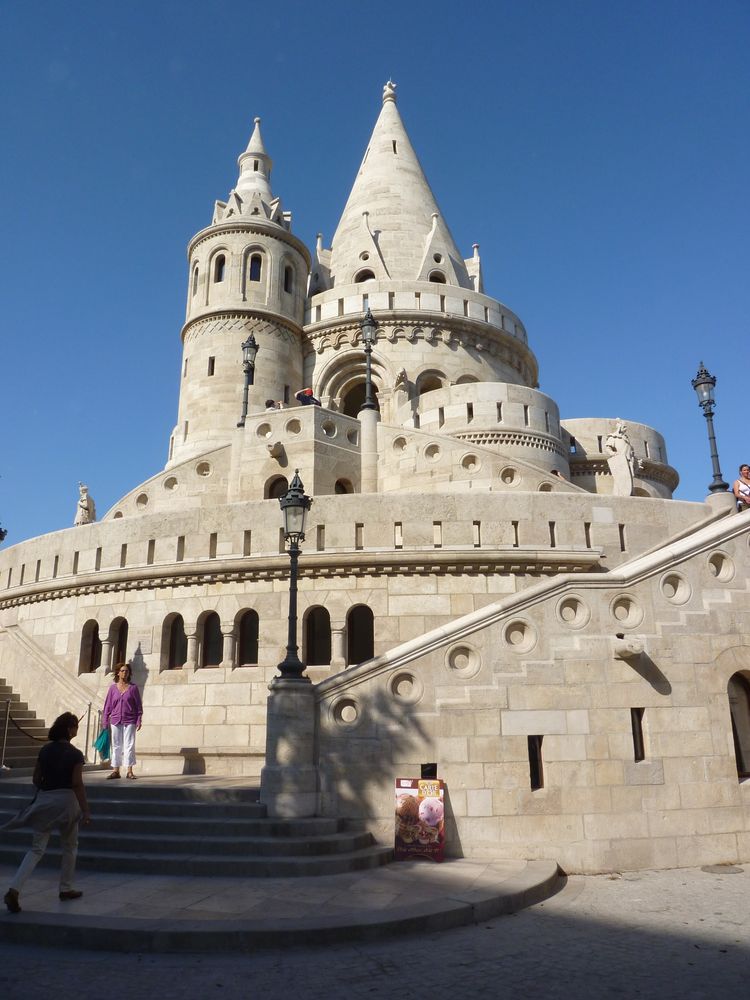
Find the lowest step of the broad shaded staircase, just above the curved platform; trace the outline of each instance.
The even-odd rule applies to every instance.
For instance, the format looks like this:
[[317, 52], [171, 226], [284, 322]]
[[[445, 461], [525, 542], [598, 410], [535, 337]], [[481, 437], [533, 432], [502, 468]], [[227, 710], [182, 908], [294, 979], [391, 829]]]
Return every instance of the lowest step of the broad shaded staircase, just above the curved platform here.
[[[26, 836], [28, 848], [29, 837]], [[288, 878], [318, 875], [337, 875], [344, 872], [378, 868], [393, 858], [390, 847], [371, 845], [355, 851], [311, 857], [286, 857], [280, 855], [252, 855], [224, 853], [218, 857], [199, 854], [157, 854], [146, 851], [104, 851], [89, 854], [83, 836], [79, 844], [77, 867], [81, 871], [119, 872], [139, 875], [200, 875], [237, 876], [242, 878]], [[0, 844], [0, 864], [17, 865], [21, 859], [18, 848]], [[54, 845], [47, 848], [42, 861], [46, 868], [60, 867], [60, 851]]]

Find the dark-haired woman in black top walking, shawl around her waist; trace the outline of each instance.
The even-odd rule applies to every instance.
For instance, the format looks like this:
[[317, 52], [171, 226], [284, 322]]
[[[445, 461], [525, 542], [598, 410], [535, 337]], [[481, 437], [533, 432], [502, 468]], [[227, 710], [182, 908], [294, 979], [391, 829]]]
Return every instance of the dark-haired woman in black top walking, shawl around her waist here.
[[79, 899], [83, 895], [73, 888], [73, 875], [78, 849], [78, 823], [91, 822], [86, 790], [83, 787], [84, 757], [70, 741], [78, 732], [78, 719], [72, 712], [64, 712], [55, 719], [49, 731], [49, 743], [39, 751], [34, 768], [34, 784], [38, 792], [34, 801], [3, 829], [30, 826], [34, 831], [31, 850], [21, 862], [5, 893], [3, 901], [11, 913], [20, 913], [18, 895], [26, 880], [42, 859], [50, 834], [60, 831], [62, 865], [60, 870], [60, 899]]

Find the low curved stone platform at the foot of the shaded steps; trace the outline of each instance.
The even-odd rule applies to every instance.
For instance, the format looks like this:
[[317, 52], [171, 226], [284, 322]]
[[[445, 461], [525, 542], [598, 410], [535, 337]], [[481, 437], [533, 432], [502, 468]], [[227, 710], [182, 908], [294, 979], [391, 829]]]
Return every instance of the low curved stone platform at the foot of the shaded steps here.
[[[0, 867], [0, 886], [13, 869]], [[206, 878], [81, 872], [60, 903], [37, 869], [23, 911], [0, 912], [0, 941], [125, 952], [252, 951], [445, 930], [514, 913], [557, 892], [552, 861], [400, 862], [314, 878]]]

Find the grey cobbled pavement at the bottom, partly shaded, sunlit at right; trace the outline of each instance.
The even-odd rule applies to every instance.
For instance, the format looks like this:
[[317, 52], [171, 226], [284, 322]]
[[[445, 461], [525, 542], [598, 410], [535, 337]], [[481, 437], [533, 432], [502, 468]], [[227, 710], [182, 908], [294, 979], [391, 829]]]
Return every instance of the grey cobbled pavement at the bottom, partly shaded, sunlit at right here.
[[[730, 1000], [750, 987], [750, 865], [569, 880], [477, 926], [253, 954], [144, 955], [4, 944], [0, 996], [358, 1000]], [[64, 986], [63, 986], [64, 984]]]

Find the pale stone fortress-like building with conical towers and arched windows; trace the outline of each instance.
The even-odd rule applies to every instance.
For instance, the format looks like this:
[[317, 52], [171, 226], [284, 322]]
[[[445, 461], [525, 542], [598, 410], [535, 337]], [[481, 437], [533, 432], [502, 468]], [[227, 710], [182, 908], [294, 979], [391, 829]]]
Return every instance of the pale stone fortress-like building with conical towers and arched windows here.
[[[100, 521], [0, 552], [0, 677], [50, 720], [100, 706], [127, 659], [144, 771], [265, 764], [272, 811], [365, 817], [385, 840], [394, 778], [436, 761], [453, 853], [750, 858], [750, 518], [673, 500], [653, 428], [561, 419], [392, 84], [330, 248], [293, 235], [259, 119], [239, 168], [188, 246], [165, 467]], [[267, 706], [295, 469], [312, 683]]]

